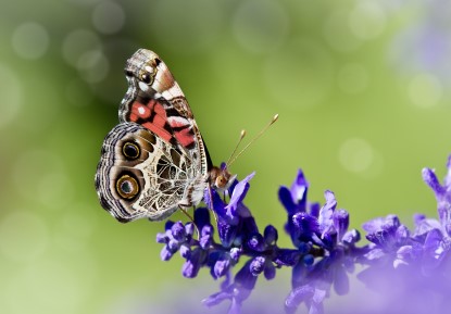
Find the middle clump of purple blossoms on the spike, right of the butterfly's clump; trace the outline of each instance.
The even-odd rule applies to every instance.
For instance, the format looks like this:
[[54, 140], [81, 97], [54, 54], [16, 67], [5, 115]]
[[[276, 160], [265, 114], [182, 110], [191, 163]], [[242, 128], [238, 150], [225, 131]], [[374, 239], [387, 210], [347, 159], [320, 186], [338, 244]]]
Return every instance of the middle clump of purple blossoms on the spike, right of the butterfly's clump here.
[[348, 231], [349, 213], [336, 210], [337, 201], [331, 191], [325, 192], [326, 202], [321, 210], [313, 205], [306, 212], [306, 187], [303, 174], [299, 172], [290, 193], [285, 187], [279, 190], [279, 198], [291, 219], [286, 230], [302, 256], [293, 266], [293, 289], [286, 299], [286, 309], [291, 312], [305, 303], [311, 313], [321, 313], [322, 302], [331, 287], [338, 294], [349, 291], [347, 274], [354, 269], [360, 252], [354, 244], [360, 235], [358, 230]]

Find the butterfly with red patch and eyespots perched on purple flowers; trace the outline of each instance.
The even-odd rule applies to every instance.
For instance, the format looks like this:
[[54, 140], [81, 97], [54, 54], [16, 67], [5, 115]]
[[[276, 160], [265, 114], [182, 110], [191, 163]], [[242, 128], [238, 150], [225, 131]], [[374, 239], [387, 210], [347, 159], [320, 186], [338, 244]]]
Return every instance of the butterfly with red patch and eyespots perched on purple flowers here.
[[235, 176], [213, 166], [180, 87], [156, 53], [139, 49], [125, 66], [120, 124], [107, 135], [96, 173], [103, 209], [122, 223], [161, 221], [199, 204], [206, 188]]

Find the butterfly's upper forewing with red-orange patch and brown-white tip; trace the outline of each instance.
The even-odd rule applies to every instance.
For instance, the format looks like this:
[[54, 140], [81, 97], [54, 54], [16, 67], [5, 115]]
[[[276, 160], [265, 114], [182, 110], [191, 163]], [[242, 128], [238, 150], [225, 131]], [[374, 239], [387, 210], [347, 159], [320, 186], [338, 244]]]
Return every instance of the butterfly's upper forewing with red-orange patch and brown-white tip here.
[[125, 66], [128, 90], [120, 121], [138, 123], [200, 162], [202, 174], [212, 167], [202, 136], [180, 87], [153, 51], [139, 49]]

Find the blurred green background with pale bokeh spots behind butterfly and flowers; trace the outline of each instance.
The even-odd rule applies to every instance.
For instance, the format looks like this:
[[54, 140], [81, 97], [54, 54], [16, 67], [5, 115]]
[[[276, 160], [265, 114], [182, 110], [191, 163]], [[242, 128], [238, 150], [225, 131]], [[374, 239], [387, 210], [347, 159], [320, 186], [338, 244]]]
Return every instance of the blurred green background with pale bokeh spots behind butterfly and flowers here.
[[[247, 204], [262, 228], [281, 229], [277, 189], [299, 167], [310, 200], [331, 189], [353, 227], [435, 215], [421, 169], [441, 177], [451, 151], [450, 21], [439, 0], [3, 1], [0, 312], [181, 313], [167, 304], [189, 300], [200, 313], [217, 289], [206, 269], [192, 281], [178, 256], [160, 261], [164, 223], [122, 225], [97, 200], [138, 48], [170, 66], [217, 164], [279, 113], [231, 168], [256, 172]], [[289, 291], [284, 276], [270, 293]]]

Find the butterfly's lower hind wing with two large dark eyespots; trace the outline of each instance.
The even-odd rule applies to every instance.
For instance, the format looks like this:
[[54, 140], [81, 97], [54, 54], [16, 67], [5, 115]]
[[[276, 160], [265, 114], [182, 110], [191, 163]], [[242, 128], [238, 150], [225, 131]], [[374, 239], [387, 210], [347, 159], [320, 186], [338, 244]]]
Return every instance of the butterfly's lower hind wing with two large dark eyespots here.
[[117, 221], [161, 221], [189, 201], [192, 161], [136, 123], [115, 126], [102, 146], [96, 188], [102, 206]]

